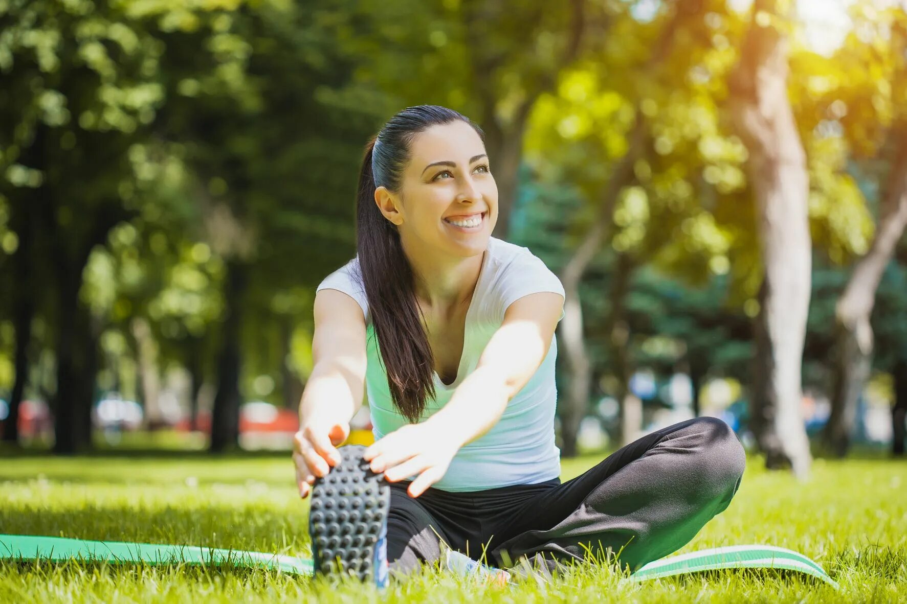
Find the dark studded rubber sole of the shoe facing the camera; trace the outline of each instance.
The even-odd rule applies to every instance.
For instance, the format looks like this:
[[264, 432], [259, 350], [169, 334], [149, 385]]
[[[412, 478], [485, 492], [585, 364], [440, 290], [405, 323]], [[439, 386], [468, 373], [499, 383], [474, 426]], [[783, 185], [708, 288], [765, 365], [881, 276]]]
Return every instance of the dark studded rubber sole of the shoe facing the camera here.
[[362, 458], [366, 447], [341, 446], [343, 461], [312, 488], [308, 533], [316, 574], [375, 580], [375, 547], [391, 491]]

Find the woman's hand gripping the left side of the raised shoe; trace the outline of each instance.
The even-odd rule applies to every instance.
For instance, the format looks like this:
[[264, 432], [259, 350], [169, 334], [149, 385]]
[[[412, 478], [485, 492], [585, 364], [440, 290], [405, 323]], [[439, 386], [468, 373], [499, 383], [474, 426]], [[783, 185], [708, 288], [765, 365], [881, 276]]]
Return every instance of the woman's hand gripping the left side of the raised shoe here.
[[293, 436], [293, 463], [299, 496], [306, 498], [309, 485], [323, 478], [332, 466], [342, 461], [336, 446], [349, 436], [349, 422], [328, 417], [312, 417]]

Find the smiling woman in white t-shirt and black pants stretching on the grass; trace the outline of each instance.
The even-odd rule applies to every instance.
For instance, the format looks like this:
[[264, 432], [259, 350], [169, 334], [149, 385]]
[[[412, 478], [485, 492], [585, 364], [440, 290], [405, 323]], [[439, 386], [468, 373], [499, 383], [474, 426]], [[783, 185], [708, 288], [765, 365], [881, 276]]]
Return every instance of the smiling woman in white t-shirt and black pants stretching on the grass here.
[[335, 446], [366, 388], [376, 442], [364, 458], [390, 483], [394, 574], [445, 545], [545, 574], [590, 554], [639, 568], [727, 507], [743, 449], [727, 424], [700, 417], [561, 484], [553, 335], [564, 291], [527, 248], [491, 235], [489, 159], [482, 129], [431, 105], [400, 111], [368, 145], [356, 257], [317, 288], [293, 455], [300, 495], [340, 464]]

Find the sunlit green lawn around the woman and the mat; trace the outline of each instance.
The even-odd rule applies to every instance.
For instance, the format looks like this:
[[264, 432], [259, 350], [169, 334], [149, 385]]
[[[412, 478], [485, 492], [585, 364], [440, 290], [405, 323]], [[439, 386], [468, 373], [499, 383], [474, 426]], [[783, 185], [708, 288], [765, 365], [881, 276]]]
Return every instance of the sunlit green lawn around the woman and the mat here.
[[[564, 478], [600, 455], [565, 461]], [[766, 543], [801, 551], [841, 584], [795, 573], [719, 571], [639, 584], [580, 565], [547, 590], [501, 590], [425, 570], [379, 593], [267, 570], [0, 561], [0, 601], [903, 601], [907, 464], [819, 459], [805, 484], [751, 459], [725, 513], [681, 551]], [[288, 455], [167, 453], [0, 458], [0, 532], [308, 555], [307, 502]]]

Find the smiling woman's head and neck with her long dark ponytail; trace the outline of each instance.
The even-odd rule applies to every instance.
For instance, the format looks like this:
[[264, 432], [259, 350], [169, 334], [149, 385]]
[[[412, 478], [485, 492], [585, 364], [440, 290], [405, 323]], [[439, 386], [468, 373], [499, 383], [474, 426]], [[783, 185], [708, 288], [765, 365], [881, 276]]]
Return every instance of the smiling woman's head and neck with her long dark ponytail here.
[[356, 228], [392, 397], [412, 421], [434, 398], [433, 369], [456, 364], [432, 335], [463, 323], [498, 206], [482, 129], [452, 110], [420, 112], [401, 112], [375, 138], [372, 178], [362, 175], [373, 182], [360, 188]]

